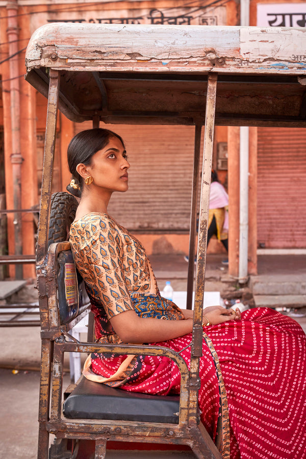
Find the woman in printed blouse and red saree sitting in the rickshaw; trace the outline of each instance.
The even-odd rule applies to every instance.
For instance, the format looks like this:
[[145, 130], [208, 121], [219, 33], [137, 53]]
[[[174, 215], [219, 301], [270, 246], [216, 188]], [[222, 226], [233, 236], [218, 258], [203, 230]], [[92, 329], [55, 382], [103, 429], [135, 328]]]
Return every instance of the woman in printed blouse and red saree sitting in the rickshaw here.
[[[107, 211], [112, 193], [128, 188], [122, 139], [83, 131], [69, 144], [68, 164], [81, 193], [70, 243], [97, 340], [165, 346], [189, 365], [193, 311], [160, 296], [144, 247]], [[305, 458], [306, 336], [298, 323], [267, 308], [240, 314], [215, 306], [203, 310], [203, 336], [200, 416], [215, 441], [223, 410], [223, 458]], [[84, 374], [125, 391], [180, 392], [180, 372], [166, 357], [95, 353]]]

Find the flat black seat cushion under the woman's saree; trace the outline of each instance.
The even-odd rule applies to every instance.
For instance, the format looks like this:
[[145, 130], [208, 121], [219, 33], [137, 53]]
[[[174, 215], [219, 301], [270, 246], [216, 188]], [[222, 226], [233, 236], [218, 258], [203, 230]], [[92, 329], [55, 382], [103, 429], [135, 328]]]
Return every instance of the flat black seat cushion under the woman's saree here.
[[65, 400], [63, 411], [64, 416], [70, 419], [177, 424], [180, 397], [126, 392], [82, 378]]

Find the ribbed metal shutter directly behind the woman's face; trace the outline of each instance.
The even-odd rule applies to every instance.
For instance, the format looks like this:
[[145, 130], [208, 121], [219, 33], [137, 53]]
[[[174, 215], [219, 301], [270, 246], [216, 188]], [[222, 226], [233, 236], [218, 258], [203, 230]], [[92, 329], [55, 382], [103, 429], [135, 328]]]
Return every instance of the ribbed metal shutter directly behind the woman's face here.
[[[92, 124], [75, 125], [76, 132]], [[188, 232], [194, 154], [193, 126], [100, 124], [124, 140], [129, 191], [114, 193], [108, 211], [132, 231]]]

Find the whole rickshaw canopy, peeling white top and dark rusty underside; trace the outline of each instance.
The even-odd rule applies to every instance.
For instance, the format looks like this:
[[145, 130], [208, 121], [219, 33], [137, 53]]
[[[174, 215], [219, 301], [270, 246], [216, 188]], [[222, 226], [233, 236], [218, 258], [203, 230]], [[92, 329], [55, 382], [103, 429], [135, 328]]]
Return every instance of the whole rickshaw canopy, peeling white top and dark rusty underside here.
[[31, 37], [25, 78], [47, 97], [58, 70], [75, 122], [192, 125], [217, 73], [216, 124], [305, 127], [305, 43], [303, 28], [52, 23]]

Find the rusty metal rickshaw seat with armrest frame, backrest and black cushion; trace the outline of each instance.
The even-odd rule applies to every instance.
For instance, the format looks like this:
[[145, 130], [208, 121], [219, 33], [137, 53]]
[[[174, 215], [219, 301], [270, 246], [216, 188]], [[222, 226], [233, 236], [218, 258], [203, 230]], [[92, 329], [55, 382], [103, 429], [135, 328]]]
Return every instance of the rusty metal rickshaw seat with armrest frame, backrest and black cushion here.
[[[183, 359], [177, 359], [170, 350], [171, 355], [167, 356], [176, 362], [181, 371], [182, 387], [185, 389], [183, 396], [182, 387], [180, 396], [147, 395], [112, 388], [81, 377], [72, 392], [67, 389], [69, 395], [62, 402], [65, 352], [99, 352], [100, 344], [93, 342], [91, 325], [85, 343], [69, 335], [73, 326], [90, 308], [84, 281], [75, 269], [69, 242], [58, 242], [49, 246], [46, 273], [47, 276], [42, 277], [40, 282], [48, 288], [47, 309], [42, 309], [42, 313], [48, 319], [43, 323], [49, 327], [41, 331], [40, 394], [41, 400], [47, 400], [49, 411], [45, 412], [45, 418], [42, 415], [40, 418], [42, 443], [39, 444], [38, 459], [46, 459], [49, 433], [54, 432], [56, 440], [50, 447], [49, 459], [67, 457], [70, 449], [73, 449], [74, 454], [75, 444], [72, 446], [61, 441], [67, 439], [76, 442], [85, 439], [94, 441], [95, 457], [101, 459], [106, 457], [107, 442], [110, 440], [139, 441], [148, 444], [174, 443], [182, 447], [187, 445], [200, 459], [221, 459], [218, 448], [199, 420], [198, 412], [195, 423], [188, 425], [189, 411], [187, 412], [186, 399], [189, 396], [189, 380], [186, 372], [182, 372], [188, 368]], [[133, 353], [141, 352], [143, 355], [144, 350], [135, 347]], [[132, 348], [134, 349], [133, 346]], [[114, 352], [119, 351], [122, 353], [120, 345], [115, 346]], [[151, 351], [157, 349], [152, 346], [149, 354]], [[161, 352], [167, 354], [168, 350]], [[77, 450], [75, 447], [75, 452]]]

